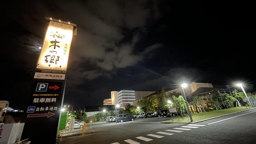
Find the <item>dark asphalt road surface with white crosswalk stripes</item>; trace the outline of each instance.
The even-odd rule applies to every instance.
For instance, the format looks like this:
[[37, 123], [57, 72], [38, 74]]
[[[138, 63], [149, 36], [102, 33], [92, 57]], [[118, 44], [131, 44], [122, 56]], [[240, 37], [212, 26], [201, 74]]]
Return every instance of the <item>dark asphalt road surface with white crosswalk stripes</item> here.
[[60, 144], [256, 143], [256, 109], [196, 125], [160, 123], [167, 119], [170, 117], [140, 118], [118, 124], [97, 123], [92, 125], [92, 133], [64, 138]]

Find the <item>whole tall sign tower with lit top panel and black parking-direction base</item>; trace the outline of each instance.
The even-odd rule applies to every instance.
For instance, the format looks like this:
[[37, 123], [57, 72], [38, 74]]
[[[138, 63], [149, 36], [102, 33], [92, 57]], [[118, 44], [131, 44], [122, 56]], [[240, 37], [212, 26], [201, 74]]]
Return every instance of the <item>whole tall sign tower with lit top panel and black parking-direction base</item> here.
[[[59, 121], [63, 105], [68, 57], [76, 24], [52, 18], [37, 61], [34, 84], [28, 96], [22, 139], [32, 143], [58, 142]], [[34, 131], [35, 128], [39, 130]]]

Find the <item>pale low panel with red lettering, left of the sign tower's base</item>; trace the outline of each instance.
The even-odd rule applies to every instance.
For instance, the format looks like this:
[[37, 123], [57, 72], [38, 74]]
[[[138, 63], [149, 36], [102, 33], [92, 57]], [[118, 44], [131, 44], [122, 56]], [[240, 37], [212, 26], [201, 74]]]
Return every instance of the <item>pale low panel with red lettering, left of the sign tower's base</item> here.
[[1, 124], [0, 143], [13, 144], [20, 141], [25, 123]]

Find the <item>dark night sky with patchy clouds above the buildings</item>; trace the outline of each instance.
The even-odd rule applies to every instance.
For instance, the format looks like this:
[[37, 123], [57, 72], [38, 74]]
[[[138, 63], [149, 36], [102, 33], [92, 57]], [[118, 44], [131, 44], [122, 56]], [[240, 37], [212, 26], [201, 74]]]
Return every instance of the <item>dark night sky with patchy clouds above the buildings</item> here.
[[111, 91], [181, 83], [244, 83], [255, 92], [255, 8], [169, 0], [9, 1], [3, 4], [0, 100], [23, 108], [47, 28], [77, 24], [64, 104], [102, 105]]

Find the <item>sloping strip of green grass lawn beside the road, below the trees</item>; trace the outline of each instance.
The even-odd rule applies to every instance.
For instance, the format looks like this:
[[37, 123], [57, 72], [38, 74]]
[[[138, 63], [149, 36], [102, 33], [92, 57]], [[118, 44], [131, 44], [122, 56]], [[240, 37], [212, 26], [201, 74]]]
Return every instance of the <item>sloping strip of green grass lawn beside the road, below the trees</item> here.
[[[222, 115], [242, 111], [245, 109], [246, 107], [236, 107], [236, 108], [228, 108], [228, 109], [221, 109], [221, 110], [212, 110], [206, 113], [192, 114], [192, 118], [193, 118], [193, 122], [196, 122], [203, 119], [208, 119], [216, 116], [222, 116]], [[172, 119], [173, 119], [173, 122], [179, 122], [177, 117]], [[164, 122], [172, 122], [172, 119], [170, 117], [170, 120], [164, 121]], [[179, 119], [180, 119], [180, 122], [190, 122], [189, 116], [184, 116], [183, 118], [179, 116]]]

